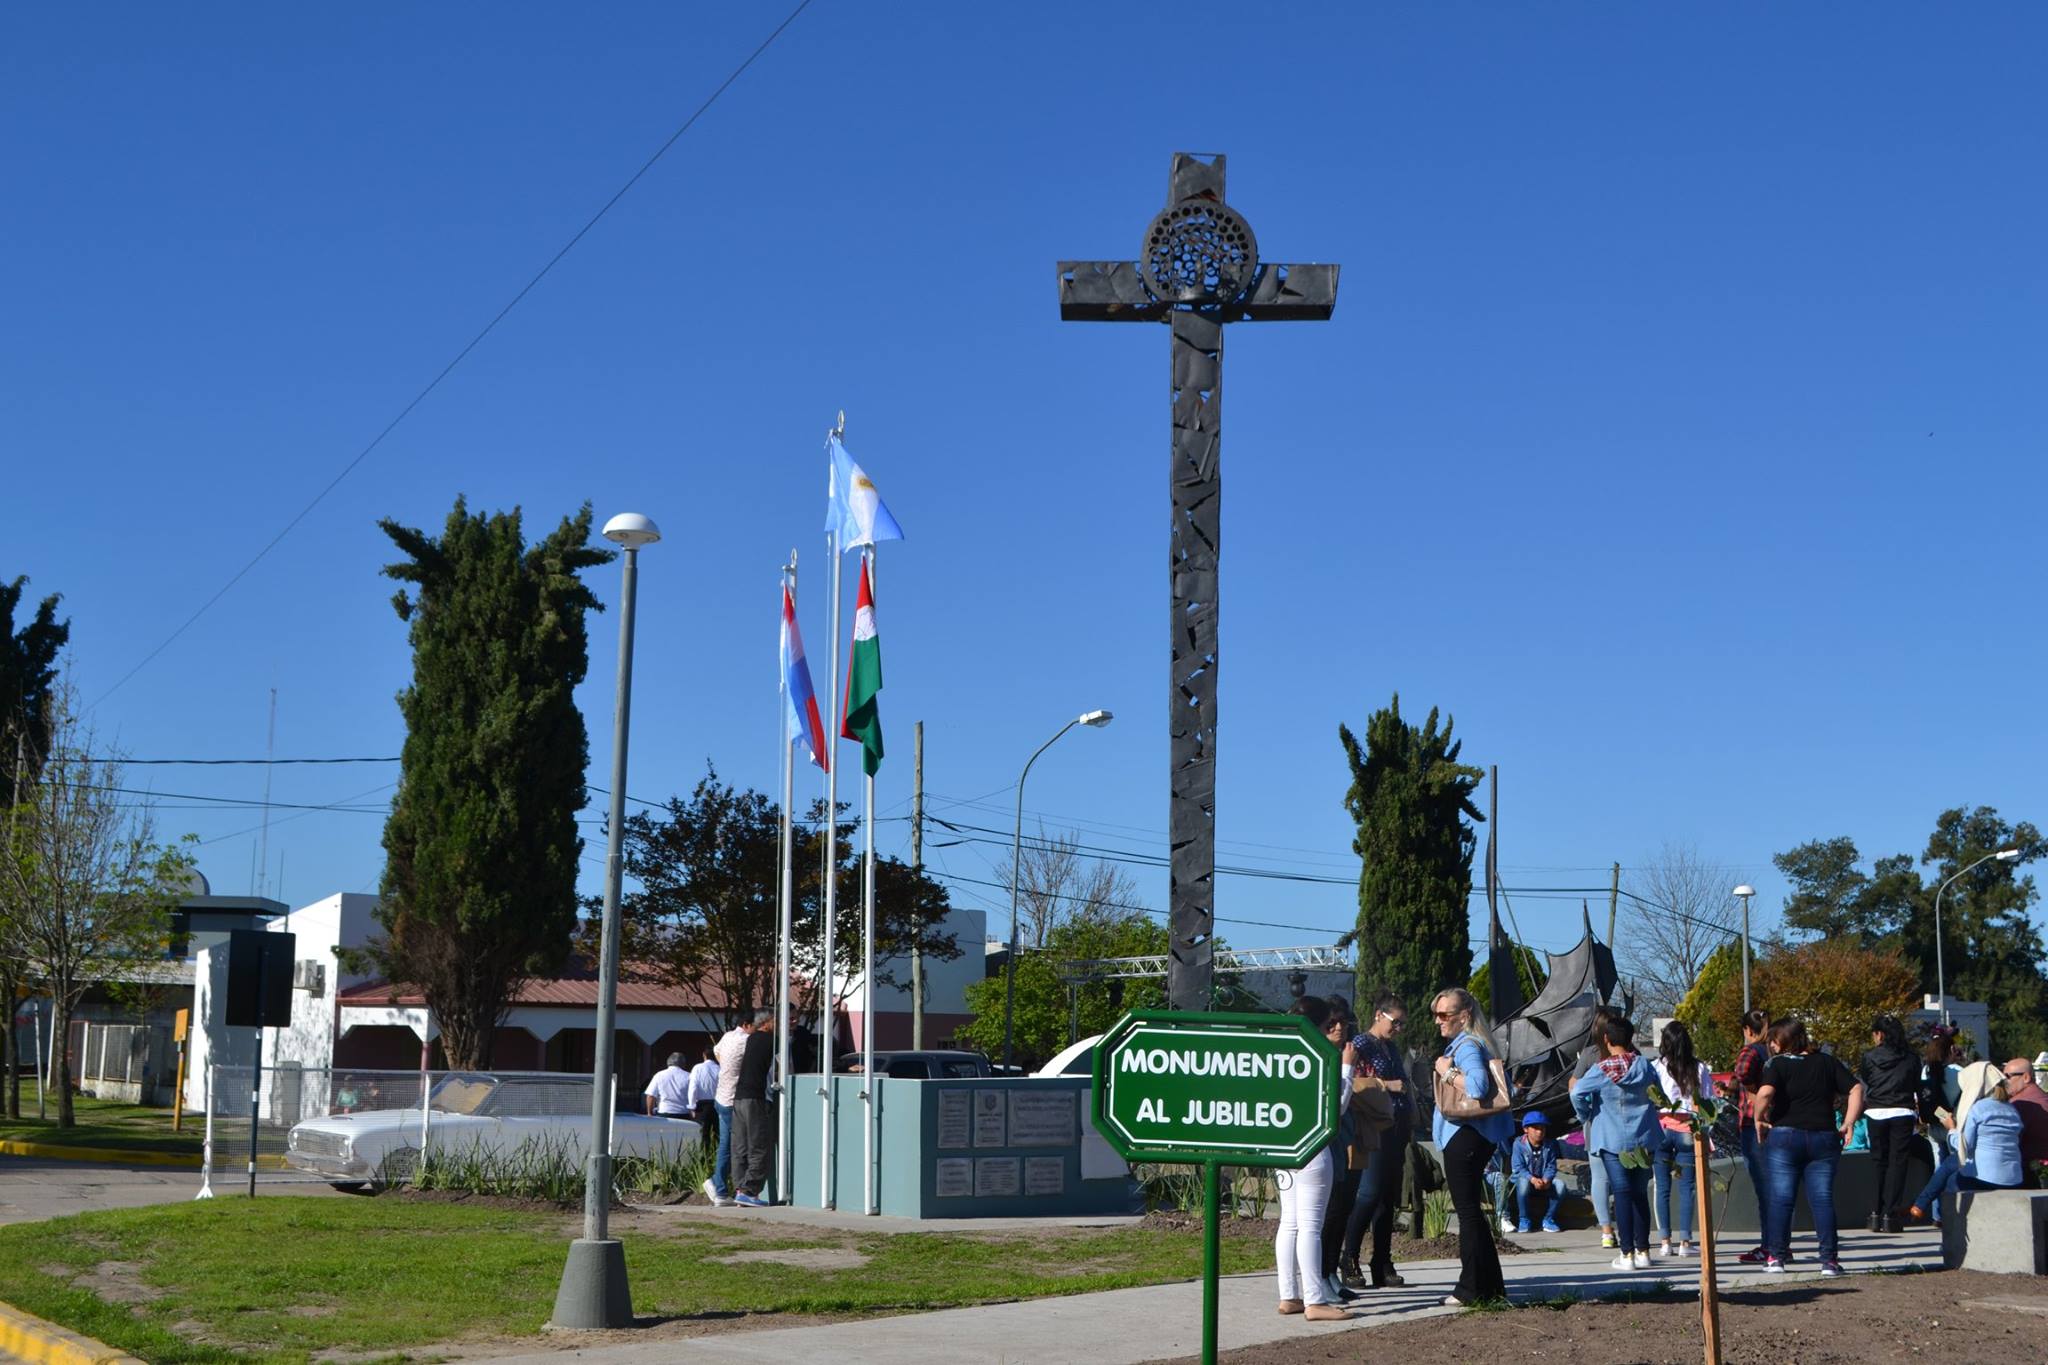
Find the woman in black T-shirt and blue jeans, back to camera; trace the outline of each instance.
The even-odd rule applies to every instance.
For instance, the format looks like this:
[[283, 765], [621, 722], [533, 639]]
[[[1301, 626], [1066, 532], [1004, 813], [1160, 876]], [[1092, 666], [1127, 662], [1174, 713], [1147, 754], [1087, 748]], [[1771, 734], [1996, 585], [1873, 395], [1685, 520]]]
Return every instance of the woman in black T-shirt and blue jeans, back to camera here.
[[[1835, 1166], [1855, 1119], [1864, 1115], [1864, 1083], [1837, 1058], [1812, 1052], [1806, 1025], [1780, 1019], [1769, 1033], [1772, 1060], [1757, 1087], [1757, 1130], [1769, 1201], [1763, 1218], [1763, 1269], [1784, 1271], [1792, 1252], [1792, 1205], [1800, 1185], [1812, 1209], [1812, 1230], [1821, 1244], [1821, 1275], [1841, 1275], [1835, 1228]], [[1847, 1097], [1845, 1117], [1835, 1121], [1835, 1101]]]

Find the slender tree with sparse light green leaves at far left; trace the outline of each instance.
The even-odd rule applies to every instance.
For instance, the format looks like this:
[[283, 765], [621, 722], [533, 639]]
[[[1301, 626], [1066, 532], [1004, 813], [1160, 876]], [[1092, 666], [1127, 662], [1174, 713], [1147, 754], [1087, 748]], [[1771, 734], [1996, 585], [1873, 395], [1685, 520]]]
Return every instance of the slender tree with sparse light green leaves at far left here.
[[[68, 688], [53, 692], [47, 724], [39, 776], [0, 831], [0, 902], [12, 907], [12, 950], [47, 986], [51, 1036], [61, 1040], [92, 984], [137, 960], [162, 960], [193, 862], [158, 843], [147, 798], [121, 790], [119, 757], [102, 757]], [[72, 1058], [61, 1044], [51, 1083], [57, 1126], [72, 1128]]]

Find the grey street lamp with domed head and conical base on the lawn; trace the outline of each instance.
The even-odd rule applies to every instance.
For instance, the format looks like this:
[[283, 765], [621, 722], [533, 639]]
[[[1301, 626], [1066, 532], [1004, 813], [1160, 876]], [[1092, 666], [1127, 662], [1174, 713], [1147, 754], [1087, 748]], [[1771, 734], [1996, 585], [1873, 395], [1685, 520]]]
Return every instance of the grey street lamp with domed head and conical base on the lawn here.
[[584, 1236], [569, 1242], [569, 1263], [555, 1291], [553, 1324], [561, 1328], [633, 1326], [627, 1252], [608, 1236], [612, 1209], [612, 1036], [618, 1027], [618, 876], [625, 860], [627, 724], [633, 714], [633, 591], [639, 551], [662, 538], [651, 518], [621, 512], [604, 538], [627, 551], [618, 591], [618, 692], [612, 702], [612, 790], [604, 855], [604, 935], [598, 950], [598, 1038], [590, 1064], [590, 1158], [584, 1166]]

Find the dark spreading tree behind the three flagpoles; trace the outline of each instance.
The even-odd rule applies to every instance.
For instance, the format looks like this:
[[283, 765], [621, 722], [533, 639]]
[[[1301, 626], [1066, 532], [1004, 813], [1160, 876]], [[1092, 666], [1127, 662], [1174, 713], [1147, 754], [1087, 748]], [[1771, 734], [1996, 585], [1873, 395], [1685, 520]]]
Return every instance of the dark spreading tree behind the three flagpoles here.
[[[823, 821], [817, 802], [809, 821], [791, 825], [791, 1001], [815, 1013], [821, 948], [817, 921], [823, 900]], [[780, 939], [780, 808], [762, 792], [719, 782], [705, 774], [688, 798], [672, 796], [664, 814], [631, 814], [625, 829], [625, 870], [639, 882], [621, 902], [621, 956], [655, 980], [692, 995], [696, 1007], [739, 1023], [754, 1009], [774, 1003], [776, 948]], [[838, 902], [834, 923], [834, 995], [862, 968], [860, 956], [860, 851], [852, 837], [838, 845]], [[602, 900], [586, 907], [596, 915]], [[895, 857], [874, 860], [874, 962], [885, 986], [901, 986], [893, 962], [922, 935], [930, 958], [950, 960], [961, 948], [940, 923], [950, 911], [946, 890]], [[596, 921], [586, 921], [586, 945], [596, 950]], [[905, 964], [907, 968], [907, 964]]]

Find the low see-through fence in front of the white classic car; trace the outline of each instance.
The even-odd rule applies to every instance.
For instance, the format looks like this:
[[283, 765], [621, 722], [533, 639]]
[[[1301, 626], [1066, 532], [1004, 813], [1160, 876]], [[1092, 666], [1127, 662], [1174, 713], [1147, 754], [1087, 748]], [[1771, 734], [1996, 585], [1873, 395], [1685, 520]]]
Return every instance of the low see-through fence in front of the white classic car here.
[[588, 1074], [209, 1066], [199, 1197], [215, 1185], [393, 1185], [428, 1152], [573, 1146], [580, 1160], [588, 1124]]

